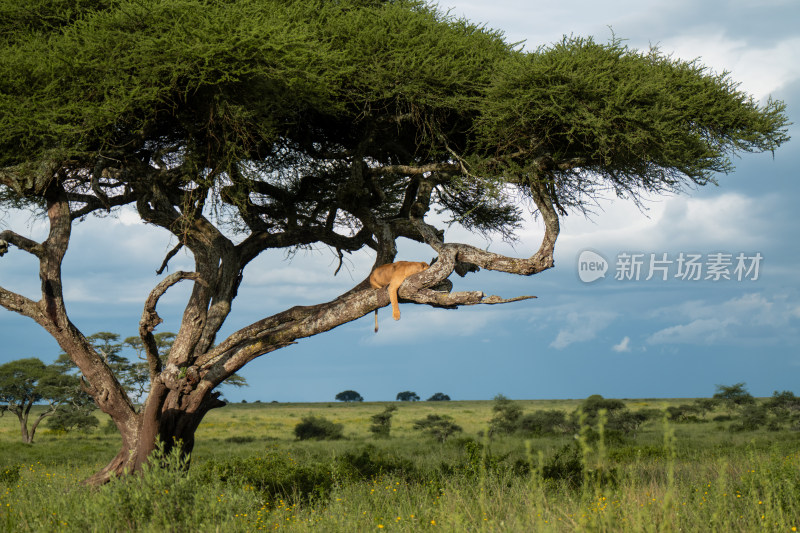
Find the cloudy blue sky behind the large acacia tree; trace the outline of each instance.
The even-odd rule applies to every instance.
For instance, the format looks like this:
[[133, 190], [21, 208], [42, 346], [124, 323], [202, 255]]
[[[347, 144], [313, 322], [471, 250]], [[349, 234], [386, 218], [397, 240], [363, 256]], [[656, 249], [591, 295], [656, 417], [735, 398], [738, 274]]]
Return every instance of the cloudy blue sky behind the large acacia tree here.
[[[765, 102], [800, 105], [800, 4], [669, 0], [554, 2], [443, 1], [457, 17], [505, 32], [526, 50], [563, 35], [612, 37], [640, 50], [657, 45], [682, 59], [728, 71], [740, 88]], [[343, 390], [367, 401], [401, 391], [453, 400], [707, 397], [718, 384], [745, 382], [755, 396], [800, 394], [800, 132], [774, 154], [745, 154], [718, 186], [688, 194], [630, 201], [601, 199], [589, 217], [562, 219], [555, 268], [532, 277], [482, 271], [453, 276], [455, 290], [512, 297], [501, 306], [459, 310], [401, 304], [402, 319], [381, 309], [329, 333], [263, 356], [240, 374], [242, 389], [223, 388], [229, 401], [328, 402]], [[40, 238], [41, 222], [0, 213], [0, 228]], [[528, 257], [542, 226], [530, 219], [513, 246], [458, 227], [447, 241]], [[72, 321], [86, 334], [136, 335], [142, 304], [159, 278], [155, 270], [175, 245], [145, 227], [132, 210], [91, 218], [73, 232], [64, 262]], [[430, 260], [426, 247], [401, 241], [398, 259]], [[287, 256], [278, 251], [248, 266], [223, 334], [294, 305], [328, 301], [364, 279], [367, 252], [338, 261], [325, 247]], [[183, 253], [172, 271], [191, 270]], [[695, 278], [700, 279], [695, 279]], [[666, 278], [666, 279], [665, 279]], [[727, 278], [727, 279], [726, 279]], [[38, 299], [37, 265], [14, 248], [0, 258], [0, 285]], [[188, 284], [162, 298], [175, 331]], [[0, 310], [0, 363], [22, 357], [52, 361], [59, 348], [31, 320]]]

